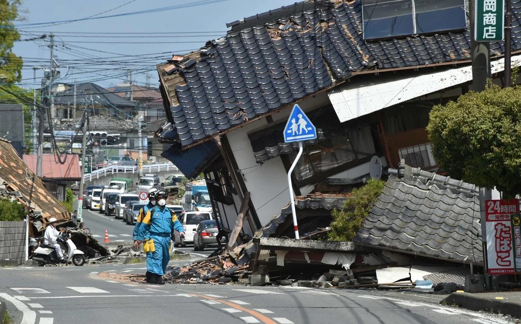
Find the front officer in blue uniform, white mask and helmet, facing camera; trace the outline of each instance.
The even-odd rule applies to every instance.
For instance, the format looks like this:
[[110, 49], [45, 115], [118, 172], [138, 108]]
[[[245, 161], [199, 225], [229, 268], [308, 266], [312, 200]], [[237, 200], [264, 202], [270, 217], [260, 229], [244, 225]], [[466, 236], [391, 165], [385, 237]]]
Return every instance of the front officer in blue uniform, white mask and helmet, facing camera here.
[[141, 244], [146, 232], [150, 232], [149, 247], [152, 241], [154, 252], [152, 252], [152, 269], [149, 270], [152, 275], [149, 282], [155, 284], [165, 284], [162, 276], [170, 261], [170, 240], [173, 230], [177, 230], [181, 237], [184, 237], [183, 226], [177, 220], [176, 214], [166, 207], [167, 197], [165, 190], [156, 193], [156, 205], [146, 212], [136, 240], [138, 245]]

